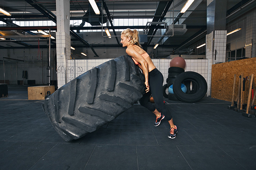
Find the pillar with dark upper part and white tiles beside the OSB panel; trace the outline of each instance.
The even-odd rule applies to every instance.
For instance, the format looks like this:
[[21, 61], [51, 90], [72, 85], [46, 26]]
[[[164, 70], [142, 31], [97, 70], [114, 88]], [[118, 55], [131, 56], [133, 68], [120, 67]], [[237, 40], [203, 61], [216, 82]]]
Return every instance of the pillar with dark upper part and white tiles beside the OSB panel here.
[[226, 0], [207, 0], [206, 58], [208, 59], [208, 94], [212, 77], [212, 64], [226, 58]]

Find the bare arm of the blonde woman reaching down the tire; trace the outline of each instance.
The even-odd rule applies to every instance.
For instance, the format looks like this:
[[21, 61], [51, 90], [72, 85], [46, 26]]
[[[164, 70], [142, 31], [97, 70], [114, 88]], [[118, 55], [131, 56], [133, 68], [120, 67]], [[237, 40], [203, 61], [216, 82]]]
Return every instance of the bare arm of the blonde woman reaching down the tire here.
[[146, 85], [146, 92], [149, 91], [149, 84], [148, 84], [148, 62], [138, 53], [133, 47], [127, 47], [126, 53], [133, 57], [138, 63], [141, 64], [142, 72], [145, 75], [145, 85]]

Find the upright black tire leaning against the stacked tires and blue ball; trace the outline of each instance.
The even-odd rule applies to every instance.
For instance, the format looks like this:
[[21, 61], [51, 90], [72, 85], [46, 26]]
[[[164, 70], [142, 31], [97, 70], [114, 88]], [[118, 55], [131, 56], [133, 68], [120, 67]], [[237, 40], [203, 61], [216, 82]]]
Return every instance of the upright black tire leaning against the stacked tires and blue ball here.
[[[187, 87], [187, 92], [181, 90], [181, 84]], [[190, 87], [192, 85], [192, 88]], [[207, 82], [201, 74], [196, 72], [183, 72], [179, 74], [172, 85], [178, 100], [188, 103], [198, 102], [207, 92]]]

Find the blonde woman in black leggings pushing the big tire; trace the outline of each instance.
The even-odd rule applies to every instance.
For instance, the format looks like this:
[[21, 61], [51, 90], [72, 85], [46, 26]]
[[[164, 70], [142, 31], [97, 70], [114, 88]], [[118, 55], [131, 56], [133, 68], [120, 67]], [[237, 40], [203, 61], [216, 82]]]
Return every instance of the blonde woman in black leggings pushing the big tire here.
[[[171, 127], [168, 137], [175, 138], [177, 127], [173, 123], [170, 111], [164, 106], [163, 102], [163, 75], [156, 69], [148, 53], [141, 48], [138, 40], [138, 31], [135, 29], [132, 31], [128, 28], [121, 33], [121, 43], [123, 44], [123, 47], [127, 47], [126, 53], [132, 57], [134, 63], [145, 75], [146, 93], [140, 99], [140, 104], [156, 115], [154, 126], [160, 125], [161, 120], [166, 118]], [[148, 98], [151, 94], [154, 98], [155, 106], [148, 102]]]

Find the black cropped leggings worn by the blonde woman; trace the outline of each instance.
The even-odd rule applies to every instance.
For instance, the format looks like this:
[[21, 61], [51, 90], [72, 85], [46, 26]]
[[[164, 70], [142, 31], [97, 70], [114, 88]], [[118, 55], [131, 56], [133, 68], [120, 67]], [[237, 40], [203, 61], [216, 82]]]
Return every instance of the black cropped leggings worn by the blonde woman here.
[[[153, 112], [157, 109], [160, 113], [165, 115], [165, 118], [169, 121], [172, 119], [170, 111], [164, 105], [164, 96], [162, 91], [162, 84], [164, 83], [164, 77], [158, 69], [154, 69], [149, 72], [149, 89], [150, 91], [145, 93], [140, 99], [140, 104], [149, 111]], [[154, 98], [154, 104], [148, 102], [150, 95]]]

